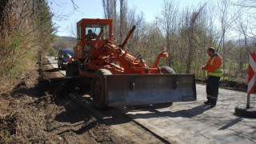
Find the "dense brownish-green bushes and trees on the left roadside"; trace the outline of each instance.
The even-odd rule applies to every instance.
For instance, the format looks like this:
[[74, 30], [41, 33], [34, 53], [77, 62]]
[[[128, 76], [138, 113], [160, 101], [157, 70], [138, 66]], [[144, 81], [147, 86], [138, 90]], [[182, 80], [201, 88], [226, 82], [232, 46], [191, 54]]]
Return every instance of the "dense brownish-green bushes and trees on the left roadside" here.
[[0, 92], [37, 72], [54, 42], [52, 18], [45, 0], [0, 1]]

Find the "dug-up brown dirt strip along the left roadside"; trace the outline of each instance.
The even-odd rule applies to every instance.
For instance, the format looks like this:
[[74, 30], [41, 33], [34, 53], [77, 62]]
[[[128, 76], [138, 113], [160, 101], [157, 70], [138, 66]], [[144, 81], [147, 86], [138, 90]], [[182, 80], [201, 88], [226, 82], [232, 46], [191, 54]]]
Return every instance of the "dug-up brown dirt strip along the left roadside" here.
[[35, 86], [1, 94], [0, 143], [165, 143], [116, 108], [95, 109], [88, 80], [75, 84], [47, 61], [38, 72]]

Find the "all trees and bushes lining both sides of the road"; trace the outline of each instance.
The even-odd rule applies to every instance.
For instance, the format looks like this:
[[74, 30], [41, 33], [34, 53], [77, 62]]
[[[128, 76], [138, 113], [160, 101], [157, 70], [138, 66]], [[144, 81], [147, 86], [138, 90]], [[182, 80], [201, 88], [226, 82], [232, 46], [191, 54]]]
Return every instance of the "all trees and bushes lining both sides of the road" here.
[[[30, 77], [43, 55], [57, 54], [60, 48], [72, 49], [75, 38], [55, 35], [57, 28], [52, 22], [55, 14], [50, 11], [50, 2], [0, 2], [0, 91]], [[114, 22], [116, 44], [135, 25], [136, 30], [126, 45], [131, 54], [135, 57], [142, 54], [151, 66], [161, 47], [166, 46], [170, 57], [162, 58], [159, 66], [170, 66], [177, 74], [195, 74], [201, 80], [206, 75], [199, 66], [206, 64], [206, 50], [211, 46], [222, 56], [223, 78], [246, 81], [248, 56], [255, 53], [256, 44], [254, 0], [208, 1], [184, 9], [179, 8], [178, 1], [161, 3], [161, 13], [149, 23], [136, 7], [128, 7], [127, 0], [102, 0], [104, 18]]]

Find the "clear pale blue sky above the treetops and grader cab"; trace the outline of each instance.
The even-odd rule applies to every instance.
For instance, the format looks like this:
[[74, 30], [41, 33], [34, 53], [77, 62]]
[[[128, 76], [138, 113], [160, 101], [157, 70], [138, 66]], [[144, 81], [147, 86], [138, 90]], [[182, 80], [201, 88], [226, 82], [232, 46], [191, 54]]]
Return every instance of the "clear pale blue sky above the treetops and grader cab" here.
[[[179, 0], [180, 8], [186, 6], [197, 5], [203, 0]], [[50, 10], [55, 16], [53, 22], [58, 27], [58, 36], [72, 36], [70, 27], [75, 27], [76, 22], [82, 18], [104, 18], [102, 8], [102, 0], [74, 0], [78, 6], [74, 10], [74, 5], [71, 0], [48, 0]], [[117, 10], [119, 1], [117, 1]], [[162, 10], [162, 0], [127, 0], [129, 8], [136, 8], [137, 14], [142, 12], [146, 22], [154, 22], [154, 19]], [[62, 15], [65, 18], [59, 17]]]

